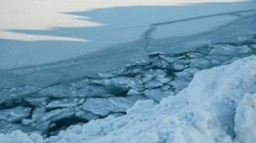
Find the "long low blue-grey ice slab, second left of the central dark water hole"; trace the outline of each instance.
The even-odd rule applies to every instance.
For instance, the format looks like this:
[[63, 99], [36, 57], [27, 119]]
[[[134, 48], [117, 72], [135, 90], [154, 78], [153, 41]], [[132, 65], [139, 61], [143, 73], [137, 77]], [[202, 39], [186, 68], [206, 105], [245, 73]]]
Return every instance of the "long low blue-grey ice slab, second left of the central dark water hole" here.
[[43, 90], [40, 90], [38, 93], [40, 97], [77, 97], [78, 90], [74, 87], [66, 87], [63, 85], [54, 85], [52, 87], [47, 87]]

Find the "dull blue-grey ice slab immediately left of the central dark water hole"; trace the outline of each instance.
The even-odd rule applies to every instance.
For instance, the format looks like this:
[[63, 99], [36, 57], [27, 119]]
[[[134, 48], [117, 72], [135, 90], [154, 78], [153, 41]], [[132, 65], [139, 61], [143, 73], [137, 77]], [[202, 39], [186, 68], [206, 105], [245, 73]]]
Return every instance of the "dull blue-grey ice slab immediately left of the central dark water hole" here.
[[109, 91], [102, 86], [87, 86], [78, 90], [79, 97], [110, 97]]

